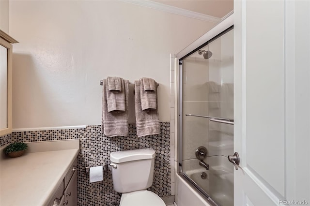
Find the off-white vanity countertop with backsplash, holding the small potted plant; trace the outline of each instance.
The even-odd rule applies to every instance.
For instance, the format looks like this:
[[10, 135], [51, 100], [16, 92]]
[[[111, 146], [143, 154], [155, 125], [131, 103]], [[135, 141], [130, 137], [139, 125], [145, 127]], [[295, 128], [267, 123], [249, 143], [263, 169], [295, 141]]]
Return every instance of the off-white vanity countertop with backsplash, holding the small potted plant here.
[[0, 206], [46, 206], [78, 156], [78, 140], [28, 147], [21, 157], [0, 159]]

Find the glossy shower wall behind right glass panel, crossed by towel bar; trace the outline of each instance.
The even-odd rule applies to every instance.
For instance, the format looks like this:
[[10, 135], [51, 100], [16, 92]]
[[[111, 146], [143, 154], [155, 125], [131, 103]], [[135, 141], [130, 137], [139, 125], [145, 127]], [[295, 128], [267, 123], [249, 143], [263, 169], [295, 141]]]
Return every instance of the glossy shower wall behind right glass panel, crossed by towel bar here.
[[[209, 44], [209, 115], [233, 119], [233, 30]], [[210, 122], [210, 156], [233, 154], [233, 125]]]

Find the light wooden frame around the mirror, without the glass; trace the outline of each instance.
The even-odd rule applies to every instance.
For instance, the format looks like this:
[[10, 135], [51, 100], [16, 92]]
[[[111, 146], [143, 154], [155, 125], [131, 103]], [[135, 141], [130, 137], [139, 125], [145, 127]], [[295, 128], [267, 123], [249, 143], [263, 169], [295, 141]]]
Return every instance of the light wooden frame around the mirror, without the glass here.
[[7, 33], [0, 30], [0, 44], [7, 48], [7, 128], [0, 129], [0, 136], [12, 132], [12, 44], [14, 43], [18, 42]]

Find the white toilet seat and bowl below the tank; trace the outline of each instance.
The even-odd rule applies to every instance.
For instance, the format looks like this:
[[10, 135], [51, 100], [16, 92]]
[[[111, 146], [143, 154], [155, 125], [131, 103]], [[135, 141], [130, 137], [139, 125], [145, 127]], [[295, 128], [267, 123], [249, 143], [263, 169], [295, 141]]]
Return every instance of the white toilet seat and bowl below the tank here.
[[154, 192], [142, 190], [123, 193], [120, 206], [166, 206]]

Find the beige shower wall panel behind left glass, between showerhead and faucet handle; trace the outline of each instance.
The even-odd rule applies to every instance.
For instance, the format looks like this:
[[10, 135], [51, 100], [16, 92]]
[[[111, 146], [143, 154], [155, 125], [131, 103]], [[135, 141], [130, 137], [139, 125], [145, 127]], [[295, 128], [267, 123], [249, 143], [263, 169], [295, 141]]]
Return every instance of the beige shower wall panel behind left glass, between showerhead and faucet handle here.
[[[208, 115], [208, 62], [202, 57], [190, 57], [184, 61], [183, 68], [183, 114]], [[208, 127], [207, 119], [184, 119], [183, 160], [196, 159], [195, 150], [208, 147]]]

